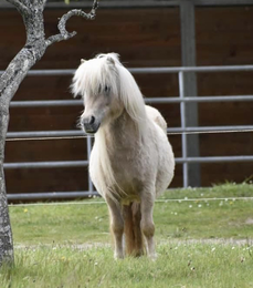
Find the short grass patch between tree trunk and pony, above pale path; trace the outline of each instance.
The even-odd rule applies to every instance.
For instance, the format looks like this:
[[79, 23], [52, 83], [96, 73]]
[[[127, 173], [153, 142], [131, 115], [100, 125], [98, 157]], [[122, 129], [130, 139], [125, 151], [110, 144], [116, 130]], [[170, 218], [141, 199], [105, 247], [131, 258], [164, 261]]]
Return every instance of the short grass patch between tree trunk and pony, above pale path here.
[[14, 244], [82, 244], [109, 238], [106, 204], [10, 206]]

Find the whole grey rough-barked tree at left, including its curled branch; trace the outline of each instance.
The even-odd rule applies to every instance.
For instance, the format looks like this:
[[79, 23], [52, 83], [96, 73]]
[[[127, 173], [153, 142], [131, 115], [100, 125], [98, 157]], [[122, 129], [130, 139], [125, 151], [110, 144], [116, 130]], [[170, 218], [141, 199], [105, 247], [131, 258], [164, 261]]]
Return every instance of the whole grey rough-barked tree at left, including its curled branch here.
[[59, 21], [60, 33], [45, 39], [43, 11], [46, 0], [7, 1], [15, 6], [23, 18], [27, 42], [0, 78], [0, 266], [2, 263], [13, 263], [14, 260], [3, 172], [10, 101], [29, 70], [43, 56], [46, 48], [54, 42], [67, 40], [76, 34], [76, 32], [70, 33], [66, 31], [66, 21], [72, 16], [81, 16], [87, 20], [94, 20], [98, 7], [98, 1], [94, 0], [89, 13], [85, 13], [82, 10], [68, 11]]

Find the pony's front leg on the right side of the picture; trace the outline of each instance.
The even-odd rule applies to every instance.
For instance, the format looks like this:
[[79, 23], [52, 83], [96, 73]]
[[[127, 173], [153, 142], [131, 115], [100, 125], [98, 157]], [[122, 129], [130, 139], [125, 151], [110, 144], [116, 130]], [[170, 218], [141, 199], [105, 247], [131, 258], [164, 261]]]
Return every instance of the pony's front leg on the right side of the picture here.
[[141, 209], [141, 222], [140, 227], [141, 232], [147, 241], [147, 255], [151, 259], [157, 258], [156, 248], [155, 248], [155, 224], [152, 219], [152, 209], [154, 209], [155, 197], [150, 193], [141, 195], [140, 209]]

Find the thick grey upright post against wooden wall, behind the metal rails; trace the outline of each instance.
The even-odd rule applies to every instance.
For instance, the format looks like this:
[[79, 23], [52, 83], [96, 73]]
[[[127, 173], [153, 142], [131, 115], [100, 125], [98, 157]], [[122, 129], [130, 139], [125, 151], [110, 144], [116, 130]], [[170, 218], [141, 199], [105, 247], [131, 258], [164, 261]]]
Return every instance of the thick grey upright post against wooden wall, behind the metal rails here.
[[[194, 4], [189, 0], [180, 1], [180, 23], [181, 23], [181, 64], [182, 66], [196, 66], [196, 29], [194, 29]], [[197, 96], [196, 72], [186, 72], [181, 74], [182, 95]], [[198, 103], [182, 104], [185, 127], [198, 126]], [[199, 156], [199, 136], [182, 135], [182, 147], [187, 156]], [[183, 173], [187, 173], [185, 187], [201, 186], [200, 164], [191, 163], [183, 166]]]

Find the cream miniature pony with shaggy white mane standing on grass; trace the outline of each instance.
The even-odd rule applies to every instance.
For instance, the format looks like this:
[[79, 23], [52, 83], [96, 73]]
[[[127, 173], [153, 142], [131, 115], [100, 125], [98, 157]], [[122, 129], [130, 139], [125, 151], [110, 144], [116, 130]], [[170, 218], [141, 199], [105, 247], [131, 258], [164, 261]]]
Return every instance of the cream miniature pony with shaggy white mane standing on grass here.
[[145, 105], [116, 53], [83, 60], [72, 91], [84, 99], [83, 130], [95, 134], [89, 174], [108, 205], [115, 258], [144, 253], [156, 258], [154, 203], [175, 169], [166, 121]]

